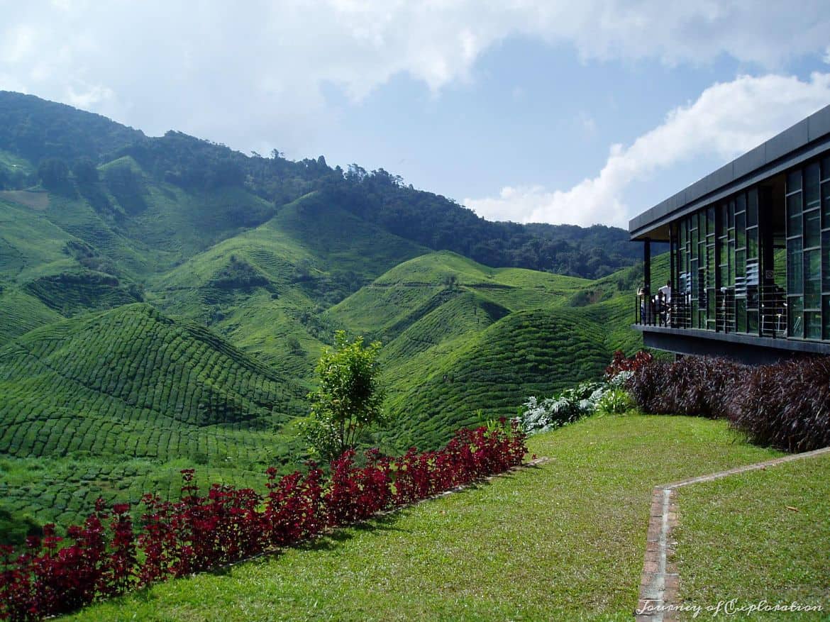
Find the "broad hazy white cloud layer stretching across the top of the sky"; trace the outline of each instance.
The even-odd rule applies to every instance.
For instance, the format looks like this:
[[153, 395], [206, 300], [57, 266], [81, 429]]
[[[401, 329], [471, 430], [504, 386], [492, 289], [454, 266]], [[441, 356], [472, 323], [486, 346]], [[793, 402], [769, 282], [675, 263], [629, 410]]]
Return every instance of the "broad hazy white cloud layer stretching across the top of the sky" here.
[[754, 0], [40, 0], [2, 12], [0, 89], [80, 93], [79, 103], [150, 134], [173, 127], [289, 155], [330, 116], [325, 85], [357, 101], [405, 73], [437, 92], [471, 79], [482, 52], [509, 36], [584, 58], [726, 54], [777, 68], [821, 55], [830, 32], [825, 0], [797, 11], [784, 2], [759, 11]]

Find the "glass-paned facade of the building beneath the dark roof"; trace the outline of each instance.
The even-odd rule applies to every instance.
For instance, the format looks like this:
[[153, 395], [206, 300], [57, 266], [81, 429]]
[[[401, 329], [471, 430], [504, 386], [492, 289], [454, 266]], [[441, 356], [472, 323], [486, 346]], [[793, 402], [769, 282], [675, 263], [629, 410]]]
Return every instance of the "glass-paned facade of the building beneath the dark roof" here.
[[670, 244], [672, 327], [830, 340], [830, 157], [674, 221]]

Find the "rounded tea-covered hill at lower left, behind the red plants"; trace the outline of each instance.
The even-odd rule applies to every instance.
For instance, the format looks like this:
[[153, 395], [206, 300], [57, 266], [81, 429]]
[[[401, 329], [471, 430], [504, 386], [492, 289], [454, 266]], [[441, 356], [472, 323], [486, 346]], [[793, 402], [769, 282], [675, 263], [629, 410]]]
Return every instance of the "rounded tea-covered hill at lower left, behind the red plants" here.
[[98, 496], [175, 497], [194, 464], [261, 484], [266, 466], [302, 453], [304, 393], [147, 304], [37, 328], [0, 349], [0, 510], [66, 526]]

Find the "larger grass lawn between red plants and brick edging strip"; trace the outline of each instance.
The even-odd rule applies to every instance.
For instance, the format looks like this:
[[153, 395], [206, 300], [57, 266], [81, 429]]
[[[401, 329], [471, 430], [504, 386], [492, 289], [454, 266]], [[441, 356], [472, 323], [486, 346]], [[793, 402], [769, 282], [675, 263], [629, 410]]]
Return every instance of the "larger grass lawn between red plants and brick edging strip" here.
[[644, 415], [529, 445], [549, 461], [73, 619], [631, 620], [652, 487], [778, 455], [720, 421]]

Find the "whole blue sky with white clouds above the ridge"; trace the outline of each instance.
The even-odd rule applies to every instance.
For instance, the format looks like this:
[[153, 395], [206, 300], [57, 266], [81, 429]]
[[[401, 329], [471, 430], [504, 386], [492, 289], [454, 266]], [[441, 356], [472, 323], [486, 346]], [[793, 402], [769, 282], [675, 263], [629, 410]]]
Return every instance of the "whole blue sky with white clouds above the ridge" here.
[[830, 104], [828, 0], [0, 0], [0, 90], [627, 226]]

